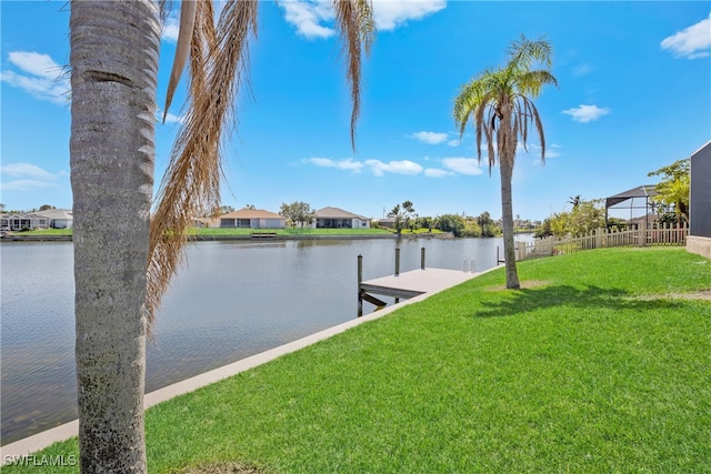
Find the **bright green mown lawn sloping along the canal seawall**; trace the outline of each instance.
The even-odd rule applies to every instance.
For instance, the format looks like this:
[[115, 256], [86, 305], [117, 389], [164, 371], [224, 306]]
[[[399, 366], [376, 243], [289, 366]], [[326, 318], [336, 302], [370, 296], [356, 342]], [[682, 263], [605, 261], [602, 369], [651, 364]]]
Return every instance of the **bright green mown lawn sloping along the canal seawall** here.
[[711, 473], [711, 262], [609, 249], [519, 273], [149, 410], [150, 472]]

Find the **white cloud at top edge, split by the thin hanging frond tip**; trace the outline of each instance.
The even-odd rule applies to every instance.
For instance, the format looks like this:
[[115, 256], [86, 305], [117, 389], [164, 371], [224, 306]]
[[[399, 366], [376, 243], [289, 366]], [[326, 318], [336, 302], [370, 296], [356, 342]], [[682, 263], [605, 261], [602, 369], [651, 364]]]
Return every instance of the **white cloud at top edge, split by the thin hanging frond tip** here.
[[[307, 38], [330, 38], [336, 29], [330, 24], [336, 18], [331, 1], [282, 0], [287, 22], [297, 28], [297, 33]], [[410, 20], [421, 20], [447, 7], [445, 0], [374, 0], [373, 18], [379, 31], [394, 30]]]

